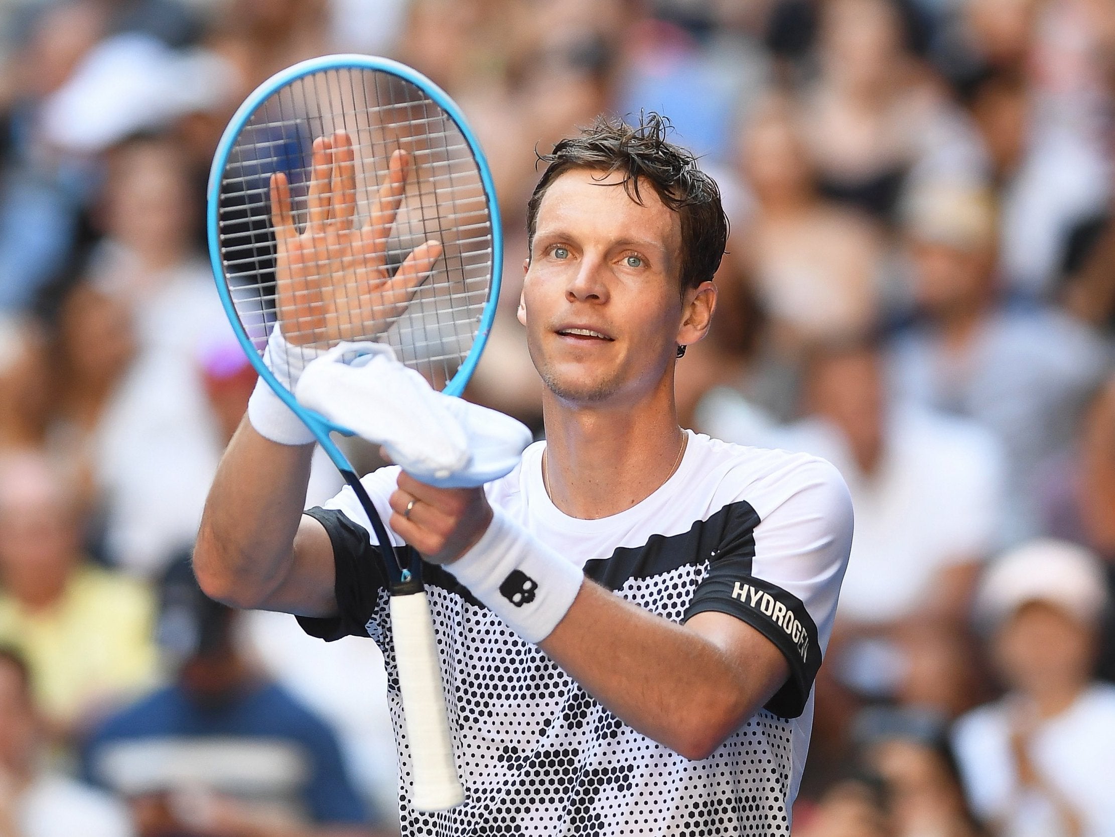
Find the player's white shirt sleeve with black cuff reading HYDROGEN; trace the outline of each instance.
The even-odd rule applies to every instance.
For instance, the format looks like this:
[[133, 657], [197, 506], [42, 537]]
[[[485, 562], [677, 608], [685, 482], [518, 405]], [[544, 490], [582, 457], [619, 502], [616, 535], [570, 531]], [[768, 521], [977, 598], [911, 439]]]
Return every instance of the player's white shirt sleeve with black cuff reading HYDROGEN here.
[[686, 612], [747, 623], [785, 655], [789, 679], [765, 709], [780, 718], [805, 710], [832, 634], [852, 545], [852, 501], [831, 464], [795, 456], [730, 503], [720, 546]]

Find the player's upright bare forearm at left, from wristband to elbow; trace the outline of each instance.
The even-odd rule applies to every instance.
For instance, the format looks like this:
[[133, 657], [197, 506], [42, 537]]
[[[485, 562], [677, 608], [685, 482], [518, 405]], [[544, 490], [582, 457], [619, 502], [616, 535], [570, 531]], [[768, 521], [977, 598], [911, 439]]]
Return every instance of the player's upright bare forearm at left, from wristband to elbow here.
[[265, 599], [292, 560], [312, 445], [283, 445], [245, 419], [221, 459], [194, 550], [205, 591], [250, 607]]

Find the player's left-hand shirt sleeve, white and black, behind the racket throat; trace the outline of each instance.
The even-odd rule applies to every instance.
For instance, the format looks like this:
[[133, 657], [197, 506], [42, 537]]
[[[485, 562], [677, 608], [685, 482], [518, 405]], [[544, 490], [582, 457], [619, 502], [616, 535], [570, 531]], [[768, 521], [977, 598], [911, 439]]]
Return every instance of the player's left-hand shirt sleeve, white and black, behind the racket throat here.
[[[376, 510], [385, 521], [390, 518], [388, 500], [398, 479], [398, 468], [381, 468], [361, 482]], [[387, 589], [387, 578], [376, 535], [356, 492], [346, 485], [334, 498], [308, 509], [321, 523], [333, 547], [333, 594], [337, 616], [314, 618], [298, 616], [298, 624], [310, 636], [332, 642], [342, 636], [369, 636], [368, 623], [375, 616], [380, 593]], [[385, 522], [386, 526], [386, 522]], [[395, 546], [403, 545], [388, 529]]]

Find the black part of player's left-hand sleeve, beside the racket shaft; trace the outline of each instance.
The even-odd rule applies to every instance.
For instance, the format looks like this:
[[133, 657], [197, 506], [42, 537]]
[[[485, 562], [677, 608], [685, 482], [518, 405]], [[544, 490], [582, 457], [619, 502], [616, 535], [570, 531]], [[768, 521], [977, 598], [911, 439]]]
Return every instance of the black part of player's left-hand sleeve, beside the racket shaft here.
[[343, 512], [316, 506], [303, 513], [326, 528], [333, 546], [338, 615], [323, 619], [298, 616], [298, 624], [310, 636], [329, 642], [342, 636], [367, 637], [365, 626], [376, 610], [380, 590], [387, 588], [379, 547], [374, 547], [363, 527]]

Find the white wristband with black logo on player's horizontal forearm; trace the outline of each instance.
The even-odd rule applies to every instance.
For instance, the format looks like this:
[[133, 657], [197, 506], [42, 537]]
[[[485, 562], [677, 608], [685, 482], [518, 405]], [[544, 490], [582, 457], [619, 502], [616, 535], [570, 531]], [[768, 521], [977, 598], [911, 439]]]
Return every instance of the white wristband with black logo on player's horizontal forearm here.
[[445, 567], [496, 616], [540, 643], [573, 606], [584, 573], [500, 509], [476, 546]]

